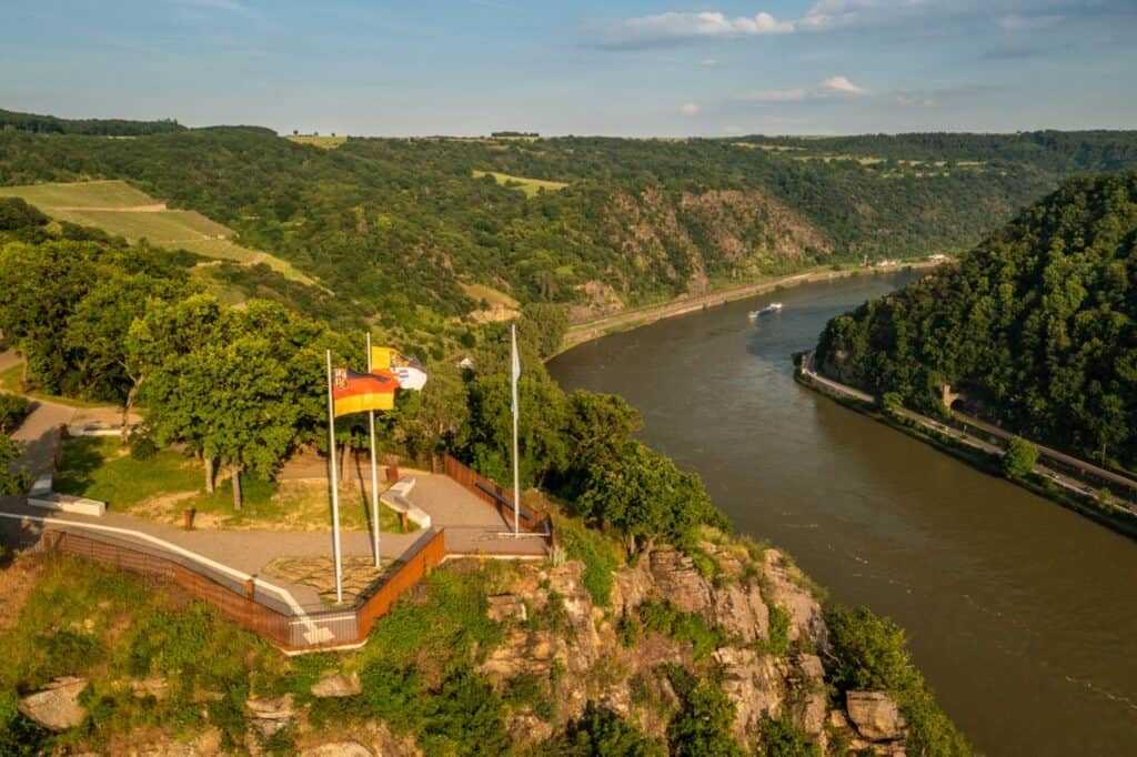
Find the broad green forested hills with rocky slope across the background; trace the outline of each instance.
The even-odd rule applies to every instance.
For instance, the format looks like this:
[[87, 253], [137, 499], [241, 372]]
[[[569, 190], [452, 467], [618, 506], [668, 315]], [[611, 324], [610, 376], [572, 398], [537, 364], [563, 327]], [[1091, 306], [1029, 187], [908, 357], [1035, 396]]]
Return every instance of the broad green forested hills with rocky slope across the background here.
[[428, 332], [509, 298], [565, 303], [583, 319], [810, 266], [961, 251], [1068, 172], [1099, 167], [1106, 152], [1137, 160], [1134, 132], [1009, 135], [997, 156], [996, 138], [951, 135], [943, 158], [914, 139], [857, 139], [322, 149], [250, 128], [9, 132], [0, 184], [128, 180], [234, 228], [381, 324]]

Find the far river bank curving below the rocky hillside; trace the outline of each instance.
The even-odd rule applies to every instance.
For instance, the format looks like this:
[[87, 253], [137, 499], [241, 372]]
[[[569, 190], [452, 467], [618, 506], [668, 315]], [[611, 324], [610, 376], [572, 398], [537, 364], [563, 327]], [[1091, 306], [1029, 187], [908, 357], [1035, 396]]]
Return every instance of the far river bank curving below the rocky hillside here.
[[763, 294], [765, 292], [780, 291], [792, 286], [800, 286], [802, 284], [848, 278], [850, 276], [881, 275], [893, 274], [901, 271], [933, 268], [946, 261], [947, 259], [904, 260], [895, 265], [847, 268], [840, 271], [818, 268], [797, 274], [789, 274], [787, 276], [778, 276], [765, 281], [742, 284], [740, 286], [720, 289], [696, 297], [678, 297], [673, 300], [667, 300], [666, 302], [646, 305], [640, 308], [632, 308], [630, 310], [622, 310], [611, 316], [604, 316], [603, 318], [595, 318], [592, 321], [570, 325], [568, 331], [565, 333], [565, 336], [561, 342], [561, 349], [557, 350], [557, 355], [570, 350], [578, 344], [592, 341], [594, 339], [646, 326], [657, 321], [663, 321], [664, 318], [674, 318], [696, 310], [705, 310], [707, 308], [746, 299], [756, 294]]

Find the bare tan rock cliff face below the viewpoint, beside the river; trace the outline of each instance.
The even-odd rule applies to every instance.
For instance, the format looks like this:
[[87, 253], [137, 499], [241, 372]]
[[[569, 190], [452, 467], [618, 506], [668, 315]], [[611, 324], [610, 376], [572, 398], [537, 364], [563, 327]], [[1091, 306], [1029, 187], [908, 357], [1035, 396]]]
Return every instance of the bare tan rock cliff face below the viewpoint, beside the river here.
[[[551, 718], [515, 714], [511, 735], [536, 746], [592, 702], [663, 740], [680, 706], [665, 671], [681, 666], [719, 681], [735, 707], [732, 735], [747, 750], [763, 747], [767, 719], [788, 717], [822, 748], [837, 739], [844, 749], [904, 754], [903, 718], [887, 694], [864, 692], [866, 704], [852, 708], [830, 701], [821, 659], [828, 632], [818, 598], [796, 566], [773, 549], [761, 561], [738, 548], [703, 543], [702, 549], [717, 568], [713, 577], [682, 552], [653, 549], [615, 574], [611, 607], [594, 602], [580, 561], [521, 566], [509, 591], [491, 599], [491, 616], [508, 632], [479, 669], [501, 690], [522, 676], [548, 676], [556, 681], [559, 704]], [[622, 633], [630, 618], [644, 618], [661, 605], [705, 618], [721, 629], [723, 643], [698, 654], [678, 633], [647, 627], [632, 640]], [[561, 627], [533, 623], [561, 613], [558, 606], [565, 618]]]

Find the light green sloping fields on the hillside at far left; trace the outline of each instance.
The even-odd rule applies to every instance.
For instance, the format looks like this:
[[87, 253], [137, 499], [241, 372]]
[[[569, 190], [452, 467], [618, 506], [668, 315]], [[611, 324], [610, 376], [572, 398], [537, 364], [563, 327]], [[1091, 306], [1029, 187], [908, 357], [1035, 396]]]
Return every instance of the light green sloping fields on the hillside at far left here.
[[57, 221], [96, 226], [131, 242], [184, 249], [242, 265], [264, 263], [284, 276], [314, 282], [291, 264], [232, 241], [234, 232], [193, 210], [169, 210], [146, 192], [121, 181], [0, 186], [0, 197], [19, 197]]

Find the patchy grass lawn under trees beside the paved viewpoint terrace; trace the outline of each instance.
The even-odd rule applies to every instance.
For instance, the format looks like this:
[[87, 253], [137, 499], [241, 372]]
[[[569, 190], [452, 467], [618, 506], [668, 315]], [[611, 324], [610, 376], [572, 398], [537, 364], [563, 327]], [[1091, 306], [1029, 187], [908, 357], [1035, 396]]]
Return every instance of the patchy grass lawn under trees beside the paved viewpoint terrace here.
[[[247, 473], [241, 477], [244, 507], [236, 511], [229, 479], [219, 481], [213, 494], [205, 492], [204, 480], [201, 465], [174, 450], [136, 460], [117, 439], [76, 438], [64, 441], [60, 448], [56, 490], [105, 501], [113, 511], [172, 525], [181, 525], [182, 511], [188, 508], [196, 510], [194, 525], [201, 529], [319, 531], [331, 523], [323, 481], [275, 482]], [[370, 497], [357, 486], [341, 488], [343, 529], [365, 531], [370, 510]], [[400, 531], [398, 515], [384, 505], [380, 506], [380, 529]]]

